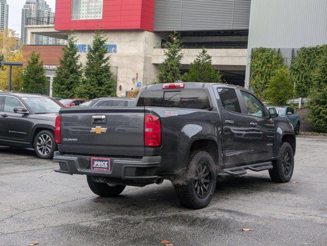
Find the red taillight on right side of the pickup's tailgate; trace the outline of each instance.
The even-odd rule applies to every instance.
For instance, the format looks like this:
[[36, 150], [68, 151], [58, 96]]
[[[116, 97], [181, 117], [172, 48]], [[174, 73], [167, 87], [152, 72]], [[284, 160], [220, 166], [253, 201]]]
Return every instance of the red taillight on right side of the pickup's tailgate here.
[[155, 115], [145, 115], [144, 145], [145, 147], [161, 146], [161, 122], [160, 119]]

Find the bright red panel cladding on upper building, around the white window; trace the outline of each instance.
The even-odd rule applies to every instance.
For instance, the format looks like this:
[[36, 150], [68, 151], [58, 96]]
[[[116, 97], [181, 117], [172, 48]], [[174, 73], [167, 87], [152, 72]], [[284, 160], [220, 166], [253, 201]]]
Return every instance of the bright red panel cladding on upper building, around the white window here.
[[155, 0], [103, 0], [102, 19], [72, 19], [72, 0], [56, 0], [55, 30], [153, 31]]

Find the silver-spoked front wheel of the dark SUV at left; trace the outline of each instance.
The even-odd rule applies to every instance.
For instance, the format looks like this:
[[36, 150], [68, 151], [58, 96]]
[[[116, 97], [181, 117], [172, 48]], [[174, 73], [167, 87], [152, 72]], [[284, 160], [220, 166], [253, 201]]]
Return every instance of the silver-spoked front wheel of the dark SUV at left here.
[[54, 135], [50, 131], [40, 131], [34, 138], [34, 150], [41, 159], [51, 159], [57, 148]]

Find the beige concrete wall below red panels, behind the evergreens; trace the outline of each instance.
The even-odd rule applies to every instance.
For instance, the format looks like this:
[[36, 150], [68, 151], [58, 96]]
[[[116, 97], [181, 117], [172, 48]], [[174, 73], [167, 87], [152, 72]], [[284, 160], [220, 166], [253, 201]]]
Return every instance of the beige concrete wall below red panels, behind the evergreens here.
[[[93, 31], [76, 32], [77, 44], [92, 44]], [[158, 68], [151, 63], [152, 51], [160, 46], [161, 36], [148, 31], [106, 31], [107, 44], [117, 45], [111, 55], [111, 66], [117, 67], [117, 95], [124, 96], [132, 88], [132, 79], [139, 74], [143, 86], [156, 80]], [[80, 61], [85, 64], [86, 52], [81, 52]], [[119, 91], [119, 86], [122, 90]]]

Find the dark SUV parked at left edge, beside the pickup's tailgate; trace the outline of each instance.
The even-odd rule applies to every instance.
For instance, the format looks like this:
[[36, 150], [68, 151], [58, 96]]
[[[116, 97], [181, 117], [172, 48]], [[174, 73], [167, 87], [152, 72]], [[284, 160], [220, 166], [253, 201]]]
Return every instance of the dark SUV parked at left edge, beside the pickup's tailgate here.
[[52, 158], [60, 108], [48, 96], [0, 92], [0, 145], [34, 148], [38, 157]]

